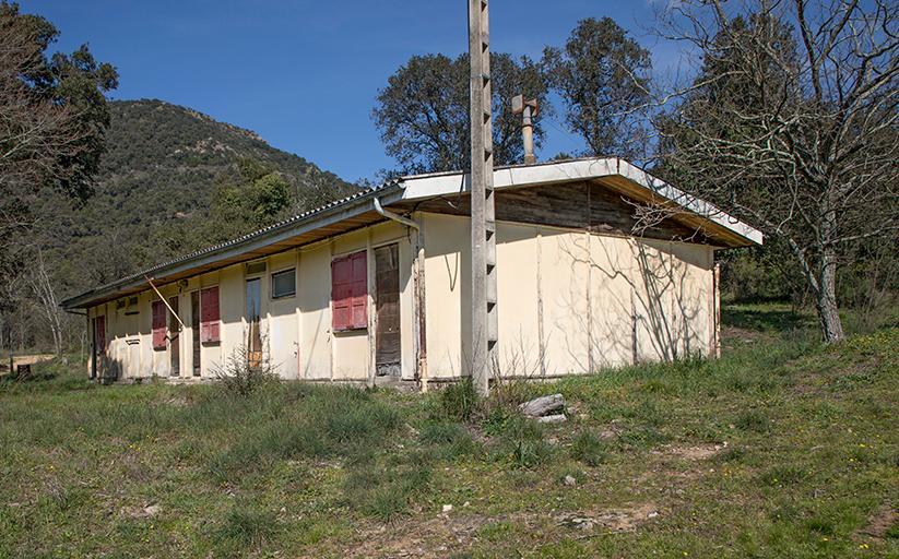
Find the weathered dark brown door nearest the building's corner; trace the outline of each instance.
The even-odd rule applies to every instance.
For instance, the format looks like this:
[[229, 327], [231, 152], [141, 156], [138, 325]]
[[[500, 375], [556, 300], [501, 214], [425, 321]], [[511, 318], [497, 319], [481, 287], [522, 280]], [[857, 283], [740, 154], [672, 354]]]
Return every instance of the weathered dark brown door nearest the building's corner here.
[[400, 258], [399, 246], [375, 249], [375, 365], [379, 376], [400, 376]]

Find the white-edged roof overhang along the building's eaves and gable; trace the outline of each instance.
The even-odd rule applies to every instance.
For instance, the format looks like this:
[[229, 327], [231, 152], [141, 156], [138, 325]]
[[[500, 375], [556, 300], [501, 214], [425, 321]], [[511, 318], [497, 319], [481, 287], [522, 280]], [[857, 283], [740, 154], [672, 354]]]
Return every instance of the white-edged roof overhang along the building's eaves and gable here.
[[[749, 225], [617, 157], [511, 166], [494, 171], [496, 189], [577, 181], [596, 181], [628, 198], [667, 205], [673, 209], [675, 218], [711, 231], [725, 247], [762, 242], [761, 233]], [[91, 289], [66, 299], [61, 307], [67, 310], [93, 307], [145, 290], [149, 287], [147, 278], [152, 278], [157, 285], [164, 285], [385, 221], [383, 215], [376, 211], [374, 199], [378, 199], [383, 206], [389, 206], [470, 190], [470, 176], [462, 173], [403, 177]]]

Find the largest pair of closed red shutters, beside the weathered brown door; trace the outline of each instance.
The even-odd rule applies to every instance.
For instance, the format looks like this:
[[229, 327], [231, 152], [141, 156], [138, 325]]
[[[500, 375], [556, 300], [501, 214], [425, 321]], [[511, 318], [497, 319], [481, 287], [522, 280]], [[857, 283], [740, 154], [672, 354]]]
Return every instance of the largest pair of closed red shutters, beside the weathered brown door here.
[[368, 273], [365, 251], [331, 262], [331, 323], [335, 331], [368, 326]]

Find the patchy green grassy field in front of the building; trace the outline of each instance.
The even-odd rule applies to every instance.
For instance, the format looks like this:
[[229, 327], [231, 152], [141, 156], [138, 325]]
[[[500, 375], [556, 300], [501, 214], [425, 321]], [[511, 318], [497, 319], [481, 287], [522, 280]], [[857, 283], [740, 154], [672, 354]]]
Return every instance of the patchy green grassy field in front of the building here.
[[[899, 557], [899, 329], [421, 395], [0, 382], [0, 557]], [[561, 392], [569, 420], [517, 416]], [[451, 509], [447, 506], [451, 506]]]

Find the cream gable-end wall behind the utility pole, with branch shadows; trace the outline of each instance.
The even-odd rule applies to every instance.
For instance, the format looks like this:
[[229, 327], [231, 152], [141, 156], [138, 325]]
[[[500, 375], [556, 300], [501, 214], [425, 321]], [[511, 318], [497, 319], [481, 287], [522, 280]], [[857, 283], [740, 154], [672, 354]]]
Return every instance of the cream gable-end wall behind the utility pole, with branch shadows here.
[[[428, 376], [457, 377], [470, 344], [470, 221], [424, 221]], [[498, 223], [497, 283], [502, 374], [583, 373], [713, 349], [707, 246]]]

